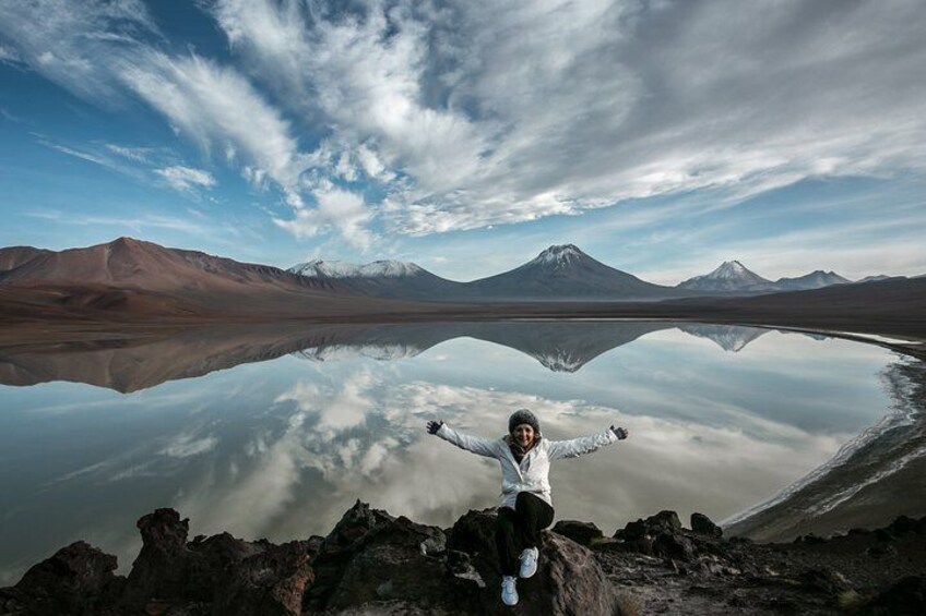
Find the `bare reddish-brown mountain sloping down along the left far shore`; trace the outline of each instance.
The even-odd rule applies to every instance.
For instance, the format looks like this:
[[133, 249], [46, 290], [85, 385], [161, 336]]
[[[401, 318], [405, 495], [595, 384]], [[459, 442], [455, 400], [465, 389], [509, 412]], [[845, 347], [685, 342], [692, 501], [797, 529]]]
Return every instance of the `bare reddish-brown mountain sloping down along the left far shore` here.
[[119, 238], [60, 252], [0, 249], [0, 311], [201, 317], [363, 311], [336, 281]]

